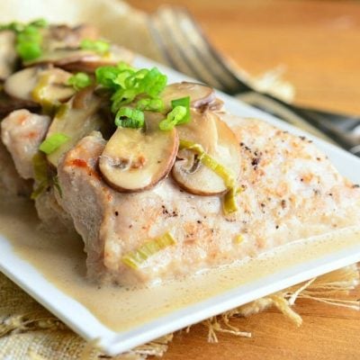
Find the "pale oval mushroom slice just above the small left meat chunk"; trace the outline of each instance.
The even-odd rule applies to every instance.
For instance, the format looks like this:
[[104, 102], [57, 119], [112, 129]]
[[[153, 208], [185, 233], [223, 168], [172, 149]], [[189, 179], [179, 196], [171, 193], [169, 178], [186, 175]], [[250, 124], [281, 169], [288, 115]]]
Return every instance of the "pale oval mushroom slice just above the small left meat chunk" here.
[[34, 103], [58, 103], [69, 99], [75, 90], [67, 85], [70, 73], [56, 67], [28, 67], [9, 76], [4, 91], [17, 99]]

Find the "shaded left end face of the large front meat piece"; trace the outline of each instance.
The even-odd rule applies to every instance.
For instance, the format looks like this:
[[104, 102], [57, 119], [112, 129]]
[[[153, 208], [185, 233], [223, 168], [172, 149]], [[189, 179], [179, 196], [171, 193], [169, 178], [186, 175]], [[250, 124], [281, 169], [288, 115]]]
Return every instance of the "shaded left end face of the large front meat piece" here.
[[[62, 164], [58, 166], [58, 181], [62, 191], [59, 199], [60, 205], [67, 211], [72, 219], [76, 231], [85, 241], [85, 251], [88, 255], [86, 264], [89, 277], [96, 278], [106, 276], [106, 267], [103, 262], [103, 238], [99, 238], [99, 230], [102, 227], [103, 216], [107, 211], [106, 203], [103, 202], [106, 193], [112, 197], [112, 190], [100, 180], [95, 169], [98, 157], [103, 152], [105, 141], [99, 132], [81, 139], [75, 148], [69, 150], [63, 157]], [[74, 179], [69, 174], [74, 168]], [[81, 169], [80, 171], [78, 171]], [[88, 178], [88, 179], [87, 179]], [[85, 186], [76, 198], [72, 198], [71, 183], [74, 182], [76, 190]], [[66, 188], [64, 189], [63, 186]], [[65, 190], [65, 193], [64, 193]], [[83, 197], [85, 195], [85, 197]]]

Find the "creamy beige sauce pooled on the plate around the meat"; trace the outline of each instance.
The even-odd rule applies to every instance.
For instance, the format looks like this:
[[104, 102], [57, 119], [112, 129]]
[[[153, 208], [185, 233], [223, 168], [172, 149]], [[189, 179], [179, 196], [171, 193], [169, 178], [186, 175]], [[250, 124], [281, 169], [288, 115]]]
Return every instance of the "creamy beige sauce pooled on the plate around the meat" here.
[[41, 230], [31, 202], [0, 198], [0, 234], [8, 239], [18, 256], [115, 331], [133, 328], [286, 267], [354, 247], [360, 241], [360, 228], [339, 230], [335, 235], [296, 242], [273, 254], [182, 281], [129, 289], [110, 285], [99, 287], [86, 281], [81, 238], [54, 237]]

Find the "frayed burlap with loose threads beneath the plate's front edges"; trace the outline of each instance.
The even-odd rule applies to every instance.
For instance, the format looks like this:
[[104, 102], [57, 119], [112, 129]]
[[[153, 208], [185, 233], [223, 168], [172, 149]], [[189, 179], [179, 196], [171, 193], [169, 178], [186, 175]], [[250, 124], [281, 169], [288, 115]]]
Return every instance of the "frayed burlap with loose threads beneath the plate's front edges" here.
[[[296, 326], [300, 326], [302, 318], [292, 308], [297, 299], [310, 299], [358, 311], [360, 301], [348, 298], [348, 293], [358, 284], [360, 284], [359, 269], [356, 265], [347, 266], [226, 311], [202, 321], [202, 325], [209, 329], [208, 341], [218, 342], [219, 333], [250, 338], [251, 333], [233, 326], [231, 320], [251, 316], [272, 306], [282, 311], [284, 317], [292, 320]], [[190, 330], [191, 327], [186, 329], [186, 331]], [[148, 356], [162, 356], [171, 340], [172, 334], [136, 347], [126, 354], [105, 356], [94, 344], [86, 344], [27, 293], [0, 274], [0, 359], [141, 360]]]

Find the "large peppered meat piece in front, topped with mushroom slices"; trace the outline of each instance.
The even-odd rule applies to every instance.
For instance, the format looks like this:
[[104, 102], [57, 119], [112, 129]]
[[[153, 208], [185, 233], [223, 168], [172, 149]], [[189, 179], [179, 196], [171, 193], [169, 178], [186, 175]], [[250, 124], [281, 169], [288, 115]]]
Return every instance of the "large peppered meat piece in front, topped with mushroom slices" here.
[[[239, 185], [245, 189], [239, 210], [227, 216], [220, 196], [185, 193], [171, 178], [141, 193], [112, 190], [97, 170], [105, 145], [99, 134], [67, 152], [58, 166], [61, 203], [85, 241], [90, 278], [158, 282], [359, 224], [360, 189], [310, 141], [262, 121], [220, 116], [237, 135]], [[157, 247], [139, 268], [123, 263], [125, 255], [166, 232], [175, 245]]]

